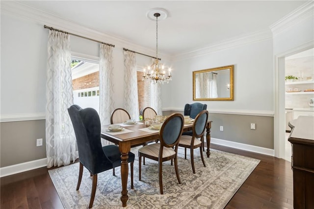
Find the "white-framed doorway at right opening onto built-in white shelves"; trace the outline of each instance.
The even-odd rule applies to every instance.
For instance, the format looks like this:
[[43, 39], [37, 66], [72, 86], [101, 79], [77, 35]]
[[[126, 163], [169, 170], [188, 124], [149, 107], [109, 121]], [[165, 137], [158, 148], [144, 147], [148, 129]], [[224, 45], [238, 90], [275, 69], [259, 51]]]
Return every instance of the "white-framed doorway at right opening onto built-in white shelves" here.
[[[314, 75], [313, 75], [313, 72], [314, 72], [314, 69], [313, 69], [313, 60], [314, 60], [313, 54], [314, 53], [313, 52], [314, 51], [313, 50], [314, 50], [313, 45], [302, 46], [298, 49], [294, 49], [294, 50], [291, 50], [290, 52], [281, 54], [280, 56], [277, 56], [275, 59], [276, 60], [275, 92], [278, 92], [277, 94], [275, 94], [275, 117], [274, 117], [275, 157], [284, 158], [288, 161], [291, 160], [291, 157], [290, 157], [291, 145], [288, 142], [289, 133], [286, 133], [286, 113], [287, 113], [287, 109], [292, 109], [291, 110], [292, 119], [296, 118], [299, 115], [298, 111], [302, 110], [302, 108], [308, 108], [307, 103], [306, 103], [306, 101], [308, 100], [308, 97], [310, 98], [314, 97], [314, 92], [304, 93], [304, 90], [306, 90], [307, 88], [311, 88], [311, 86], [314, 85]], [[305, 55], [305, 54], [308, 54], [308, 55]], [[304, 57], [307, 57], [306, 60], [308, 61], [304, 61]], [[303, 59], [303, 61], [301, 61], [302, 64], [298, 64], [300, 63], [300, 60], [302, 59]], [[304, 68], [304, 66], [302, 66], [304, 64], [307, 64], [311, 67]], [[300, 69], [303, 69], [303, 70], [300, 71]], [[302, 79], [302, 71], [303, 71], [303, 79]], [[285, 77], [288, 76], [288, 74], [293, 74], [292, 76], [298, 79], [291, 81], [293, 83], [286, 83]], [[301, 79], [299, 79], [299, 77]], [[290, 84], [292, 85], [292, 87], [290, 86]], [[310, 86], [308, 86], [308, 84]], [[299, 93], [299, 92], [302, 92], [302, 93]], [[286, 94], [288, 97], [290, 97], [287, 99], [287, 101], [286, 101]]]

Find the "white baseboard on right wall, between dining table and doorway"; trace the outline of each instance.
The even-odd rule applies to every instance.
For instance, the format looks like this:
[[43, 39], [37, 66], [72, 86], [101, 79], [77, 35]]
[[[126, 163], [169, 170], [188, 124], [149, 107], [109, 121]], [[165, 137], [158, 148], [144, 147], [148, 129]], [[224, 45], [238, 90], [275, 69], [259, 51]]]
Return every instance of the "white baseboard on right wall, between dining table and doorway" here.
[[218, 145], [232, 147], [239, 150], [260, 153], [260, 154], [268, 155], [268, 156], [275, 156], [275, 151], [273, 149], [258, 147], [258, 146], [249, 145], [249, 144], [242, 144], [242, 143], [227, 141], [223, 139], [210, 138], [210, 144], [218, 144]]

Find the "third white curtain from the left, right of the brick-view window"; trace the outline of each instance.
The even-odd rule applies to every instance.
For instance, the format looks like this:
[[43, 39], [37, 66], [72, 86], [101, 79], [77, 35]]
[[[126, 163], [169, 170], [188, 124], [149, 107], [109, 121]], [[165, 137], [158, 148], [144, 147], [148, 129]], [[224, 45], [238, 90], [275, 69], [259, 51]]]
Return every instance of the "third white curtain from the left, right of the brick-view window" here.
[[131, 118], [139, 120], [136, 58], [134, 52], [124, 51], [124, 108]]

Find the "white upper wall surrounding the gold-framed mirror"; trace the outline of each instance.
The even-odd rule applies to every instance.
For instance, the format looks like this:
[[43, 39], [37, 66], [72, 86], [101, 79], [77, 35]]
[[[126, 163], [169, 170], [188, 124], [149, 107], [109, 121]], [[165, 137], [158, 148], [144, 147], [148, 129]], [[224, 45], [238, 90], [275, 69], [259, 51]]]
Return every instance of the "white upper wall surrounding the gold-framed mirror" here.
[[183, 109], [184, 104], [196, 102], [193, 101], [192, 72], [227, 65], [235, 65], [235, 100], [201, 101], [208, 105], [208, 110], [273, 110], [272, 39], [176, 62], [177, 71], [169, 83], [172, 95], [164, 95], [163, 107]]

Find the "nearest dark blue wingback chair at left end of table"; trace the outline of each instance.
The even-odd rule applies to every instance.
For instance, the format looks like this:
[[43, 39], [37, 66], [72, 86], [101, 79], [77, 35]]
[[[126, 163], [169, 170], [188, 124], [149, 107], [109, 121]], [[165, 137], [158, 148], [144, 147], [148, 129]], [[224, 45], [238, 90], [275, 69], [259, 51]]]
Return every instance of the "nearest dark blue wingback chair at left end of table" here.
[[[74, 104], [68, 108], [68, 112], [78, 144], [79, 173], [77, 190], [82, 180], [83, 167], [85, 167], [93, 178], [92, 192], [88, 207], [92, 208], [97, 187], [97, 174], [120, 166], [121, 153], [119, 147], [115, 145], [102, 147], [101, 123], [95, 109], [82, 109], [80, 106]], [[131, 188], [133, 188], [133, 153], [129, 153], [128, 160], [131, 162]]]

